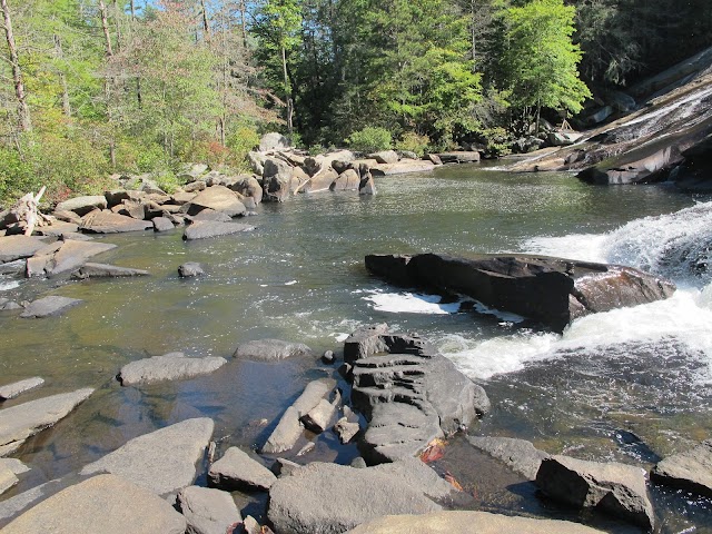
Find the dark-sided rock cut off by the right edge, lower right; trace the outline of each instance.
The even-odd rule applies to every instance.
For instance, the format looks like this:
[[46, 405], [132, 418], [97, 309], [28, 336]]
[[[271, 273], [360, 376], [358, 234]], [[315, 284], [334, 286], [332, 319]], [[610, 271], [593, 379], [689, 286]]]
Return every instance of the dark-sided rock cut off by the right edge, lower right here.
[[712, 497], [712, 439], [660, 462], [650, 477], [656, 484]]

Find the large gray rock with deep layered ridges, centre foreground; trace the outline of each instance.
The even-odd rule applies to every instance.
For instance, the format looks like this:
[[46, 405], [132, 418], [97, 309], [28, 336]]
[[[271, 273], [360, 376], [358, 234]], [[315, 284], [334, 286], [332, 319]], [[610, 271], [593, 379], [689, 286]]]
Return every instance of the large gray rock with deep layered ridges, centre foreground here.
[[352, 403], [369, 422], [359, 446], [372, 464], [414, 456], [490, 409], [484, 389], [434, 347], [386, 328], [356, 332], [344, 348], [354, 364]]

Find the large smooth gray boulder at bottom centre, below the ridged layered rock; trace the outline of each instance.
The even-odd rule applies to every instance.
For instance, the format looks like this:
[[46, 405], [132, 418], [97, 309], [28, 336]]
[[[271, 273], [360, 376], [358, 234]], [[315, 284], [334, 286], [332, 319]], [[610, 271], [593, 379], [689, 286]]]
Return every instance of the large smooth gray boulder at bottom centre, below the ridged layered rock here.
[[337, 533], [384, 515], [437, 512], [428, 495], [451, 490], [418, 459], [360, 469], [313, 463], [275, 482], [268, 517], [276, 532]]

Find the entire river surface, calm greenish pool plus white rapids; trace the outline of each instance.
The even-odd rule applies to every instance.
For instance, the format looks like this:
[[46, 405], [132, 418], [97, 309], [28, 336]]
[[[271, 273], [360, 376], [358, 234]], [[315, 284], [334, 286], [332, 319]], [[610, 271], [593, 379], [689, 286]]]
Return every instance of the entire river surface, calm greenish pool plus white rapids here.
[[[101, 238], [118, 248], [98, 260], [147, 269], [146, 278], [0, 277], [0, 296], [16, 300], [44, 294], [85, 300], [62, 317], [0, 315], [0, 383], [47, 379], [6, 406], [97, 388], [18, 453], [33, 469], [10, 495], [187, 417], [212, 417], [221, 447], [257, 447], [304, 385], [333, 369], [313, 362], [238, 362], [231, 359], [237, 345], [273, 337], [320, 353], [382, 322], [429, 338], [487, 389], [493, 413], [473, 434], [516, 436], [550, 453], [643, 467], [712, 435], [709, 198], [479, 166], [382, 178], [377, 187], [373, 198], [326, 192], [263, 205], [248, 220], [257, 227], [251, 234], [192, 243], [179, 230]], [[394, 288], [364, 268], [367, 254], [422, 251], [621, 263], [671, 277], [679, 291], [666, 301], [585, 317], [556, 335], [484, 307], [461, 312], [457, 303]], [[188, 260], [204, 264], [207, 276], [179, 279], [176, 269]], [[113, 379], [130, 360], [174, 350], [230, 363], [212, 376], [141, 389]], [[325, 435], [303, 461], [348, 463], [357, 454]], [[453, 462], [463, 468], [468, 461]], [[479, 507], [547, 515], [546, 506], [531, 505], [537, 497], [527, 492], [522, 498], [530, 504], [500, 496], [483, 497]], [[710, 502], [655, 492], [660, 532], [712, 532]]]

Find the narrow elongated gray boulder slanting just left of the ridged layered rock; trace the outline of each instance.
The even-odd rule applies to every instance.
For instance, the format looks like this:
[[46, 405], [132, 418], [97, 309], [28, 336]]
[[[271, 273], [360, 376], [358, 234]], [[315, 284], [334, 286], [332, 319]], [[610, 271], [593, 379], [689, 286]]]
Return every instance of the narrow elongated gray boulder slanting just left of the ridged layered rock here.
[[291, 451], [304, 433], [301, 418], [325, 399], [336, 387], [333, 378], [322, 378], [307, 384], [301, 395], [287, 408], [277, 423], [277, 427], [261, 447], [264, 454], [277, 454]]

